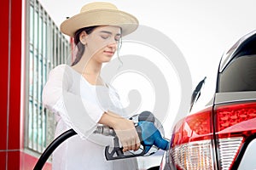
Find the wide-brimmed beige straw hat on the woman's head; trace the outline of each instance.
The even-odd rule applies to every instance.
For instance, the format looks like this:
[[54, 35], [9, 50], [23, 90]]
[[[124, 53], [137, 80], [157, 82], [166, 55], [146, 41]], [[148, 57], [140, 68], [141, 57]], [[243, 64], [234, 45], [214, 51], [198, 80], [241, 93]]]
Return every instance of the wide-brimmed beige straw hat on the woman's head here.
[[61, 32], [70, 37], [80, 28], [88, 26], [120, 26], [122, 36], [135, 31], [138, 20], [133, 15], [120, 11], [112, 3], [88, 3], [81, 8], [79, 14], [61, 23]]

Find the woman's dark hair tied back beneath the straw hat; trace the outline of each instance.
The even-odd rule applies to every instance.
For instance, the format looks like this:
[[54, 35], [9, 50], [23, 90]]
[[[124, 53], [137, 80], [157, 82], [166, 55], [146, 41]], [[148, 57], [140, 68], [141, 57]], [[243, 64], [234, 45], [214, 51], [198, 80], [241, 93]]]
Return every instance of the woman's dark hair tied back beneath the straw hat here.
[[72, 66], [76, 65], [79, 62], [79, 60], [82, 58], [82, 55], [84, 54], [85, 46], [83, 43], [80, 42], [80, 33], [82, 31], [85, 31], [87, 34], [90, 34], [96, 27], [97, 26], [84, 27], [75, 32], [73, 41], [78, 48], [78, 52], [76, 54], [76, 58], [74, 59], [74, 61], [72, 63]]

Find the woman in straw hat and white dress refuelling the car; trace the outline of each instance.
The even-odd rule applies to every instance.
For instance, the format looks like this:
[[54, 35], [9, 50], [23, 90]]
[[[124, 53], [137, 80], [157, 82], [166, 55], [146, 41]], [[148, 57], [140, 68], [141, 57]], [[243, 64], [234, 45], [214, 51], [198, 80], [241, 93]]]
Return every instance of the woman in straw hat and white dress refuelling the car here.
[[44, 86], [44, 106], [55, 113], [55, 136], [69, 128], [79, 135], [65, 141], [53, 154], [53, 169], [137, 169], [136, 159], [106, 161], [104, 147], [112, 140], [93, 134], [100, 123], [113, 127], [123, 150], [138, 150], [134, 123], [114, 89], [100, 77], [102, 64], [118, 50], [120, 38], [135, 31], [137, 19], [111, 3], [89, 3], [65, 20], [61, 31], [74, 37], [78, 52], [73, 65], [58, 65]]

